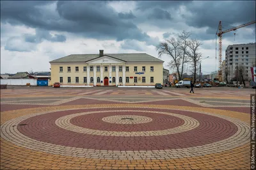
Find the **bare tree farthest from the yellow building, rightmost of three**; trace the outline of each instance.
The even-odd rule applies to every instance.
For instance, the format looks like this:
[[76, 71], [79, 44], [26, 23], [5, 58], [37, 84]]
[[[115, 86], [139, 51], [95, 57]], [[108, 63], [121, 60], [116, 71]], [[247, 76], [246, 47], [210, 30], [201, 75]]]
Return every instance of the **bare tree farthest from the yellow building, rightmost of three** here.
[[202, 54], [198, 52], [200, 45], [202, 45], [202, 43], [196, 39], [188, 40], [188, 50], [186, 51], [186, 54], [188, 55], [190, 61], [192, 62], [192, 66], [194, 68], [193, 83], [195, 83], [196, 81], [196, 65], [198, 64], [198, 61], [200, 61], [200, 59], [202, 58]]

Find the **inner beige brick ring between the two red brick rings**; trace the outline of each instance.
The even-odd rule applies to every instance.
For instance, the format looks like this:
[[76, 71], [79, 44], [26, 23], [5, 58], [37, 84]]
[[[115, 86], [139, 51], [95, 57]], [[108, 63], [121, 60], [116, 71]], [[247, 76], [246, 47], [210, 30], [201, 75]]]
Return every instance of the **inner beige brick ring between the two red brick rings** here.
[[[171, 112], [157, 112], [157, 111], [136, 111], [136, 112], [152, 112], [155, 114], [158, 113], [158, 114], [167, 114], [171, 116], [177, 116], [178, 118], [181, 118], [182, 120], [184, 120], [185, 123], [179, 127], [169, 128], [166, 130], [154, 130], [154, 131], [142, 131], [142, 132], [113, 132], [113, 131], [106, 131], [106, 130], [93, 130], [90, 128], [77, 127], [76, 125], [73, 125], [72, 123], [70, 123], [70, 120], [77, 116], [81, 116], [84, 114], [93, 114], [98, 112], [109, 112], [109, 111], [96, 111], [96, 112], [94, 111], [94, 112], [81, 112], [77, 114], [68, 114], [67, 116], [58, 118], [55, 121], [55, 124], [60, 128], [64, 128], [66, 130], [70, 130], [70, 131], [81, 133], [81, 134], [111, 135], [111, 136], [157, 136], [157, 135], [177, 134], [177, 133], [185, 132], [187, 130], [192, 130], [193, 128], [198, 127], [200, 124], [197, 120], [190, 118], [188, 116], [184, 116], [181, 114], [173, 114]], [[118, 111], [111, 111], [111, 112], [131, 112], [131, 110], [118, 110]]]

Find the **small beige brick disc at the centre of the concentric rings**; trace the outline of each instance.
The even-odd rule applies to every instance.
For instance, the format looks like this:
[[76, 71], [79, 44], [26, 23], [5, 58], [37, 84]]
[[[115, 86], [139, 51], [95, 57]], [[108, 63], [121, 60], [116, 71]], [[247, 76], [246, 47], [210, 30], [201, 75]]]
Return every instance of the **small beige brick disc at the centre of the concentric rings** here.
[[138, 115], [115, 115], [115, 116], [107, 116], [101, 119], [102, 121], [106, 121], [108, 123], [116, 123], [116, 124], [140, 124], [140, 123], [148, 123], [152, 121], [152, 118], [148, 118], [146, 116], [138, 116]]

